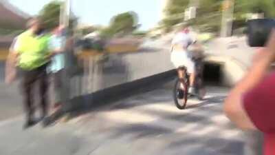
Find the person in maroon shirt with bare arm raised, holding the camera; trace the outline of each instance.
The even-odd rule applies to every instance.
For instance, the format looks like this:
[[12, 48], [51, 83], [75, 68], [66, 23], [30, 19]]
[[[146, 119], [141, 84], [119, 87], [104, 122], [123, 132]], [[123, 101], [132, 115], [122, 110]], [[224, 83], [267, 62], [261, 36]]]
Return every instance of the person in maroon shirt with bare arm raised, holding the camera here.
[[248, 73], [225, 99], [224, 111], [243, 130], [259, 130], [264, 134], [263, 153], [275, 154], [275, 31], [265, 48], [259, 48]]

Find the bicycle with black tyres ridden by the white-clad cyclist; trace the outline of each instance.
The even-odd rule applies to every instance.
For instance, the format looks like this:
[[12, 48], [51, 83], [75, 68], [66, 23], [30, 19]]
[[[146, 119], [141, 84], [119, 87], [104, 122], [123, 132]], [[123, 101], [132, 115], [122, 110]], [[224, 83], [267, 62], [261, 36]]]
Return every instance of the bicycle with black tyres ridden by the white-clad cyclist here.
[[[184, 110], [186, 108], [188, 97], [192, 96], [191, 94], [188, 94], [188, 88], [190, 86], [189, 74], [187, 74], [187, 68], [185, 66], [179, 68], [178, 70], [184, 70], [184, 72], [186, 73], [184, 78], [184, 83], [182, 83], [182, 85], [184, 86], [183, 87], [184, 89], [182, 89], [181, 82], [179, 81], [179, 78], [177, 78], [173, 89], [173, 98], [174, 98], [176, 107], [179, 110]], [[197, 76], [195, 80], [195, 96], [197, 96], [197, 99], [201, 101], [203, 100], [203, 96], [206, 93], [205, 88], [203, 86], [202, 60], [197, 60], [196, 71], [197, 71]]]

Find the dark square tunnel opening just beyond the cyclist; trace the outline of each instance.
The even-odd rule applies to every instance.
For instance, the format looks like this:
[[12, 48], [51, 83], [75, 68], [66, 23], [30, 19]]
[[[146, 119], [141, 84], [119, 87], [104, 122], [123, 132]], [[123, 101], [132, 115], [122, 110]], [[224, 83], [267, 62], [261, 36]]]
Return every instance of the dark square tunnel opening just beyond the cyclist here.
[[204, 63], [203, 79], [206, 85], [222, 85], [222, 63]]

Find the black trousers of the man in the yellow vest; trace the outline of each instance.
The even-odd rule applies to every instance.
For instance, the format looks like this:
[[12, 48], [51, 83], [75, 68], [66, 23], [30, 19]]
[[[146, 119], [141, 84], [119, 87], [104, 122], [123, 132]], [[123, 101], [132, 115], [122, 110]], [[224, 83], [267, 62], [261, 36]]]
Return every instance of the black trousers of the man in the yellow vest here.
[[[41, 112], [43, 116], [48, 114], [48, 78], [47, 78], [47, 65], [43, 65], [34, 70], [22, 70], [22, 93], [23, 93], [23, 103], [25, 107], [25, 112], [27, 114], [27, 118], [30, 119], [34, 115], [34, 95], [39, 95], [39, 101], [41, 104]], [[39, 93], [35, 93], [35, 84], [39, 86]]]

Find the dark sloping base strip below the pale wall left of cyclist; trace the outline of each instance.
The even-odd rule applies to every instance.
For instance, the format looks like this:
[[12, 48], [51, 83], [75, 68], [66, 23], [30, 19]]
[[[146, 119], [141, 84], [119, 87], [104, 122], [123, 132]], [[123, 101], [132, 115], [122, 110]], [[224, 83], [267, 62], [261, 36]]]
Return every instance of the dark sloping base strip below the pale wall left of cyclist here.
[[110, 105], [114, 101], [133, 96], [134, 94], [154, 90], [159, 87], [160, 84], [166, 83], [166, 81], [175, 77], [175, 75], [175, 70], [169, 70], [128, 83], [108, 87], [91, 94], [77, 96], [72, 99], [69, 112], [91, 110], [91, 108], [94, 109], [96, 107]]

